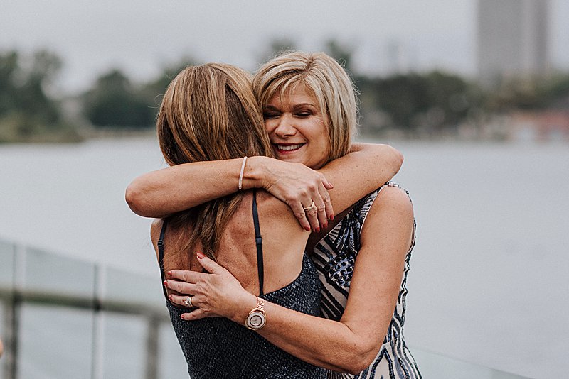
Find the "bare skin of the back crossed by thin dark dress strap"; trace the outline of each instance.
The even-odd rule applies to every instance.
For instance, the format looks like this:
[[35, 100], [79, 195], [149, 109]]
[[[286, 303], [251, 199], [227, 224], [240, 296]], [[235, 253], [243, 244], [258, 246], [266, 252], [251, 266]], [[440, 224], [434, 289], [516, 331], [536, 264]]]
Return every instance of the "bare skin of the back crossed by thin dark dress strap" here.
[[[233, 214], [223, 231], [217, 260], [230, 271], [241, 285], [255, 295], [259, 294], [257, 277], [257, 250], [255, 229], [252, 219], [252, 191], [243, 197], [237, 211]], [[257, 191], [257, 212], [259, 214], [264, 258], [264, 292], [272, 292], [293, 282], [302, 270], [302, 257], [309, 233], [298, 224], [287, 204], [262, 190]], [[157, 251], [161, 220], [152, 224], [152, 244]], [[193, 246], [190, 267], [176, 267], [171, 252], [177, 251], [181, 244], [179, 233], [168, 229], [164, 236], [164, 270], [201, 271], [195, 253], [201, 246]]]

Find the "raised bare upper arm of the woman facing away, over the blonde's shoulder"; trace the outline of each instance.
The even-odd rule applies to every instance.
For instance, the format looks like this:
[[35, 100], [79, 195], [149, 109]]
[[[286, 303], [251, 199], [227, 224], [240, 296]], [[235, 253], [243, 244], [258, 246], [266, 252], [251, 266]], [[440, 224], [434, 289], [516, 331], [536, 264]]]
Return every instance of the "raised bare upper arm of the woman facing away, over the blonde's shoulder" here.
[[336, 213], [388, 182], [403, 164], [403, 155], [389, 145], [358, 143], [344, 157], [319, 170], [334, 189], [329, 191]]

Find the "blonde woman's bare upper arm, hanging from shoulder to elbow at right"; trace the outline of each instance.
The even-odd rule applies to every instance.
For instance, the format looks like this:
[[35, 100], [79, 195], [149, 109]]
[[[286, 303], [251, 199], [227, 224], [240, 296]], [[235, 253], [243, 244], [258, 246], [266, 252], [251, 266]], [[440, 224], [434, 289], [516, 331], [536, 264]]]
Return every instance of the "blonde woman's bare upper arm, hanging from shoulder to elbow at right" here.
[[397, 187], [376, 197], [361, 231], [346, 310], [341, 319], [375, 356], [397, 302], [413, 236], [413, 206]]

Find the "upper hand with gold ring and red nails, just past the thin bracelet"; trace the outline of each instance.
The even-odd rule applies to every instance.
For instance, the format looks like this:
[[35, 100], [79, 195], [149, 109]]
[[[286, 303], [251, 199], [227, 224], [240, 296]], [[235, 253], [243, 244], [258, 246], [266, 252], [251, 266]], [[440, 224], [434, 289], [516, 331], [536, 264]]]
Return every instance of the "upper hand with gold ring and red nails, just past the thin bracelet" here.
[[[302, 163], [265, 161], [267, 172], [263, 188], [292, 209], [299, 224], [307, 231], [319, 232], [334, 219], [334, 209], [328, 190], [334, 188], [323, 174]], [[314, 202], [316, 209], [305, 212]]]

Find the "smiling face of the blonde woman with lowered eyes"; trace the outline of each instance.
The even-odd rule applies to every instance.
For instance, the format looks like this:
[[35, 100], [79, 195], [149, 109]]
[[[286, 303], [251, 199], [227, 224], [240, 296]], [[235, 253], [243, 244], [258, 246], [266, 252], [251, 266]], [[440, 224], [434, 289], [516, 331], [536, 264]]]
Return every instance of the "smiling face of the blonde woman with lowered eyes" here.
[[303, 163], [314, 170], [330, 155], [326, 116], [304, 85], [275, 94], [263, 109], [272, 150], [280, 160]]

